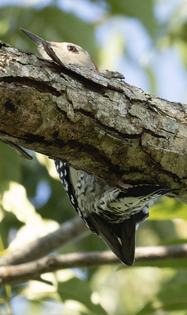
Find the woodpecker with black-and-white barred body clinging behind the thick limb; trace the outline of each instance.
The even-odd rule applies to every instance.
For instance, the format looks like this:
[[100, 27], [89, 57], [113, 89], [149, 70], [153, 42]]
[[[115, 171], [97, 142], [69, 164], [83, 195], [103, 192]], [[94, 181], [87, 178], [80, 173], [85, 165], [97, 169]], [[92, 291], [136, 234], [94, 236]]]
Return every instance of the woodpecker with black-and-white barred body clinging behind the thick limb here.
[[[98, 71], [92, 57], [73, 43], [43, 41], [40, 37], [21, 28], [38, 46], [42, 57], [51, 59], [43, 43], [49, 43], [58, 59], [65, 64], [85, 66]], [[57, 59], [55, 58], [54, 61]], [[73, 169], [66, 163], [54, 161], [60, 180], [69, 199], [86, 225], [98, 234], [118, 259], [132, 266], [135, 259], [135, 234], [139, 223], [149, 216], [154, 199], [175, 189], [158, 185], [118, 184], [125, 188], [109, 187], [102, 180]]]

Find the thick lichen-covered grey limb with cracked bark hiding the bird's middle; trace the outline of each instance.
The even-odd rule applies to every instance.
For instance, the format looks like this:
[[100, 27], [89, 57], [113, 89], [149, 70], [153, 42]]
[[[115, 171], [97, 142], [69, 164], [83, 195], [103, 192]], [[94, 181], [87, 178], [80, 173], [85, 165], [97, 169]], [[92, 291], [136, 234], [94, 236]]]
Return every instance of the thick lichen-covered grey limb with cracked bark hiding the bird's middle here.
[[[180, 189], [187, 203], [187, 106], [125, 83], [118, 72], [60, 66], [0, 43], [0, 140], [119, 180]], [[174, 88], [174, 87], [173, 87]]]

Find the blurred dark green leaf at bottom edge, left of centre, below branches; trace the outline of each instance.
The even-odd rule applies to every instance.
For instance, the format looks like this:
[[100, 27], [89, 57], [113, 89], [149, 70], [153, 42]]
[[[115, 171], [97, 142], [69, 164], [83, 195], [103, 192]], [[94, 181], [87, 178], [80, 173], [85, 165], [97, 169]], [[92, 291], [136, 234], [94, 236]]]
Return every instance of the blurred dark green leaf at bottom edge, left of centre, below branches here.
[[107, 312], [100, 304], [95, 305], [91, 302], [91, 288], [88, 281], [72, 278], [66, 282], [58, 284], [58, 293], [63, 301], [75, 300], [84, 304], [91, 312], [98, 315], [107, 315]]

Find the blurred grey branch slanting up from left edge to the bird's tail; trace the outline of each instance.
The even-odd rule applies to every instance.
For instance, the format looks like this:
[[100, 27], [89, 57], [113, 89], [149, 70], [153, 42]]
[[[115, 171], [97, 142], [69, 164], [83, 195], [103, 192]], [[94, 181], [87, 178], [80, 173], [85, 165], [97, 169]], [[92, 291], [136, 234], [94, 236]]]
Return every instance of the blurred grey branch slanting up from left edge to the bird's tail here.
[[38, 238], [14, 252], [0, 257], [0, 266], [18, 265], [51, 253], [54, 249], [91, 234], [80, 217], [61, 224], [58, 230]]

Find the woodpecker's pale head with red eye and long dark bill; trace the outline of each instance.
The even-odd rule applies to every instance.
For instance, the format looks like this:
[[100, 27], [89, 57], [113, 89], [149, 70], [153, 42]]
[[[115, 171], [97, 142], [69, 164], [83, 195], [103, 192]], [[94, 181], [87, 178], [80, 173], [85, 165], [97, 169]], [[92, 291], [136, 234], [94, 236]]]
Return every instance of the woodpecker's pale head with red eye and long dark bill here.
[[[24, 30], [23, 28], [20, 28], [20, 30], [23, 31], [38, 46], [38, 50], [43, 58], [51, 60], [51, 58], [44, 50], [44, 47], [42, 45], [42, 42], [44, 40], [42, 38], [34, 35], [29, 31]], [[63, 63], [80, 65], [98, 71], [98, 68], [92, 57], [80, 46], [73, 43], [47, 43], [50, 43], [52, 45], [53, 51]]]

